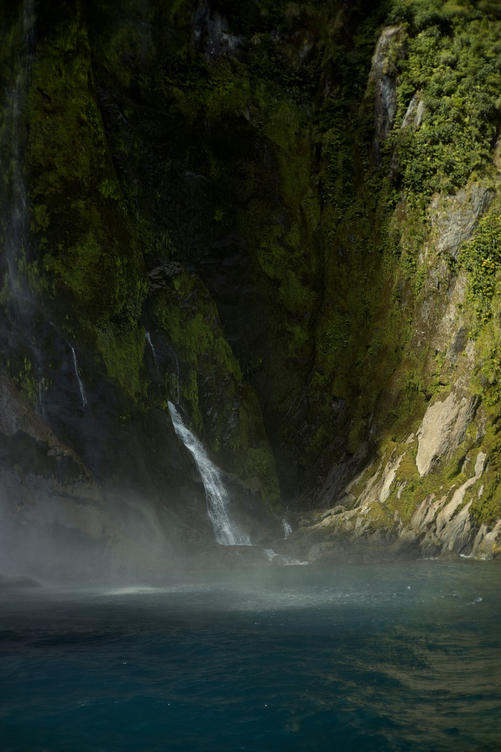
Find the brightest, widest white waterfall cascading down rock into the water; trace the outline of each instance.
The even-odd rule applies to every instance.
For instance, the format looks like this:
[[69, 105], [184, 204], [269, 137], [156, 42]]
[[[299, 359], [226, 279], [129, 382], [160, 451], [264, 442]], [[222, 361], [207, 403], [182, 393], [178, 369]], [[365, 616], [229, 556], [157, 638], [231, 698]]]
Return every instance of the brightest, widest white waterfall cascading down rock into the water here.
[[192, 453], [207, 496], [207, 513], [213, 523], [216, 541], [224, 546], [250, 546], [250, 538], [230, 517], [230, 499], [221, 471], [209, 459], [201, 441], [186, 428], [172, 402], [168, 402], [174, 430], [186, 449]]

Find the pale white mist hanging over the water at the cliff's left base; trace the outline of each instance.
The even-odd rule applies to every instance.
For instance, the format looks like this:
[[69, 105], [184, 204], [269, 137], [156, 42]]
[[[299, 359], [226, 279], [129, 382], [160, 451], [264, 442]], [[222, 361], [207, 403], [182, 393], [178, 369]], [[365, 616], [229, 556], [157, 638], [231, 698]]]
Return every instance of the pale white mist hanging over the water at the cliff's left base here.
[[185, 563], [167, 511], [140, 499], [77, 505], [44, 499], [23, 517], [0, 514], [0, 572], [74, 587], [161, 578]]

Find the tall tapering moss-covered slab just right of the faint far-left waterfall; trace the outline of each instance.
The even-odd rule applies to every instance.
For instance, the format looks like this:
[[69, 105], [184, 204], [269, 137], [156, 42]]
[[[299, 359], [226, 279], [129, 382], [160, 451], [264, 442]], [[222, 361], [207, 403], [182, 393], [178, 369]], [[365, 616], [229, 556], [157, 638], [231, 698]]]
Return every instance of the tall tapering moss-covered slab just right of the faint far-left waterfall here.
[[50, 301], [63, 329], [137, 395], [145, 389], [138, 323], [147, 290], [143, 241], [110, 157], [80, 5], [62, 9], [44, 32], [29, 81], [26, 138], [38, 259], [21, 254], [18, 268], [35, 295]]

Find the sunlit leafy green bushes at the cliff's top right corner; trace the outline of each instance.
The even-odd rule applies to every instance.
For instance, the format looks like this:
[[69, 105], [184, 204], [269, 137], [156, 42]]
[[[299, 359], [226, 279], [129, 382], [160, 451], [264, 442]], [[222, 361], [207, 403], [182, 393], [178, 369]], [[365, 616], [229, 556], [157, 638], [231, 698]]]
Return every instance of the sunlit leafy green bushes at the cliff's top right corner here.
[[[492, 11], [494, 11], [492, 7]], [[464, 2], [400, 2], [391, 20], [405, 23], [397, 126], [397, 177], [409, 196], [453, 193], [491, 159], [501, 113], [501, 20]], [[424, 102], [421, 126], [400, 129], [415, 92]]]

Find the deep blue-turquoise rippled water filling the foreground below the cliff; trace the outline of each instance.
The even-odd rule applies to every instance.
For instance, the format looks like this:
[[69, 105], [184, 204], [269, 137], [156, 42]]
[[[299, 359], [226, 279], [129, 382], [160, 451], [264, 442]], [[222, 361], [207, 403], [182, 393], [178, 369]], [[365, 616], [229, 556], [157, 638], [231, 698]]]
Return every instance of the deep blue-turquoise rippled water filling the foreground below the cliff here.
[[0, 596], [8, 750], [499, 750], [495, 564]]

